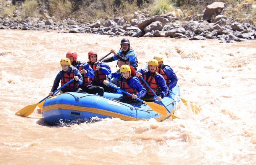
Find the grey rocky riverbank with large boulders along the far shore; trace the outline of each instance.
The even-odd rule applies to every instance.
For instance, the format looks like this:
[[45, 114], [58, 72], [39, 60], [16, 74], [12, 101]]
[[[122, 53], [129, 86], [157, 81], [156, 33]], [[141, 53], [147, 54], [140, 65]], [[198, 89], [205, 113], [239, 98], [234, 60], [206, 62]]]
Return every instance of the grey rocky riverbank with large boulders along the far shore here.
[[[52, 17], [41, 13], [41, 17], [13, 19], [0, 18], [0, 29], [21, 30], [58, 30], [69, 33], [96, 33], [110, 36], [131, 37], [170, 37], [189, 38], [189, 40], [218, 39], [224, 42], [247, 41], [256, 38], [256, 26], [250, 22], [238, 23], [235, 19], [222, 15], [225, 3], [214, 2], [208, 5], [203, 19], [180, 21], [177, 12], [160, 16], [149, 16], [148, 13], [136, 11], [130, 22], [122, 17], [107, 19], [103, 22], [81, 23], [75, 19], [53, 21]], [[214, 19], [212, 19], [214, 18]]]

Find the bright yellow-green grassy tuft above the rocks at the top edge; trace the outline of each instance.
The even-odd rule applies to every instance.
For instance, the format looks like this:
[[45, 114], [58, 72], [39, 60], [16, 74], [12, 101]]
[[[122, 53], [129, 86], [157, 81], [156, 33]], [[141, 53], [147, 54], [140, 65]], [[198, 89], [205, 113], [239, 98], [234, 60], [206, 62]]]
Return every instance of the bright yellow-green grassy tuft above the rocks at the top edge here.
[[151, 8], [151, 15], [166, 14], [169, 11], [175, 11], [175, 8], [169, 0], [156, 0]]

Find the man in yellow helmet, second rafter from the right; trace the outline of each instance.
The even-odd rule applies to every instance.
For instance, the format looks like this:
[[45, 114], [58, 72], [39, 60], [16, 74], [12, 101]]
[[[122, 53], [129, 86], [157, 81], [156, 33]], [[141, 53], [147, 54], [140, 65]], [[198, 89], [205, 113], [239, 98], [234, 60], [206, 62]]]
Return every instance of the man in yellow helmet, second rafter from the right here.
[[[167, 95], [167, 86], [165, 79], [162, 75], [156, 72], [158, 68], [158, 61], [156, 59], [150, 59], [148, 61], [147, 69], [140, 69], [136, 71], [136, 76], [142, 76], [142, 78], [149, 84], [152, 90], [158, 97], [156, 98], [159, 102]], [[154, 101], [154, 94], [149, 87], [142, 81], [141, 84], [147, 89], [147, 94], [144, 96], [145, 101]]]

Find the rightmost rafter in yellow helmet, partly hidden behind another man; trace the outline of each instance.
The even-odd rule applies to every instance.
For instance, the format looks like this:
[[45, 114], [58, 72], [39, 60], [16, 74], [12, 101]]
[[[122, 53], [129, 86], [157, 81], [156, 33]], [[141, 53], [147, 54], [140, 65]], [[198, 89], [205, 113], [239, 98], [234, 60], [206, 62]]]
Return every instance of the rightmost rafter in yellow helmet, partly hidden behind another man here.
[[176, 74], [169, 65], [164, 65], [164, 56], [155, 55], [154, 59], [158, 61], [157, 73], [164, 77], [168, 90], [172, 90], [178, 82]]

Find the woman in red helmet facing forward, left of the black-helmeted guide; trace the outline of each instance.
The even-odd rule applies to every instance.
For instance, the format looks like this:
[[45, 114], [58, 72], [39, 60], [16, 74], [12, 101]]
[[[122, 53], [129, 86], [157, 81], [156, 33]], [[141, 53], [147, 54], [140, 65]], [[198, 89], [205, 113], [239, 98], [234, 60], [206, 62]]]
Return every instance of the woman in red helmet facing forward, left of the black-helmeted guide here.
[[104, 91], [113, 92], [113, 88], [109, 88], [103, 84], [103, 81], [107, 78], [107, 75], [111, 73], [109, 65], [98, 61], [98, 54], [96, 51], [88, 52], [87, 62], [92, 70], [94, 70], [94, 78], [92, 78], [92, 85], [100, 86], [104, 88]]

